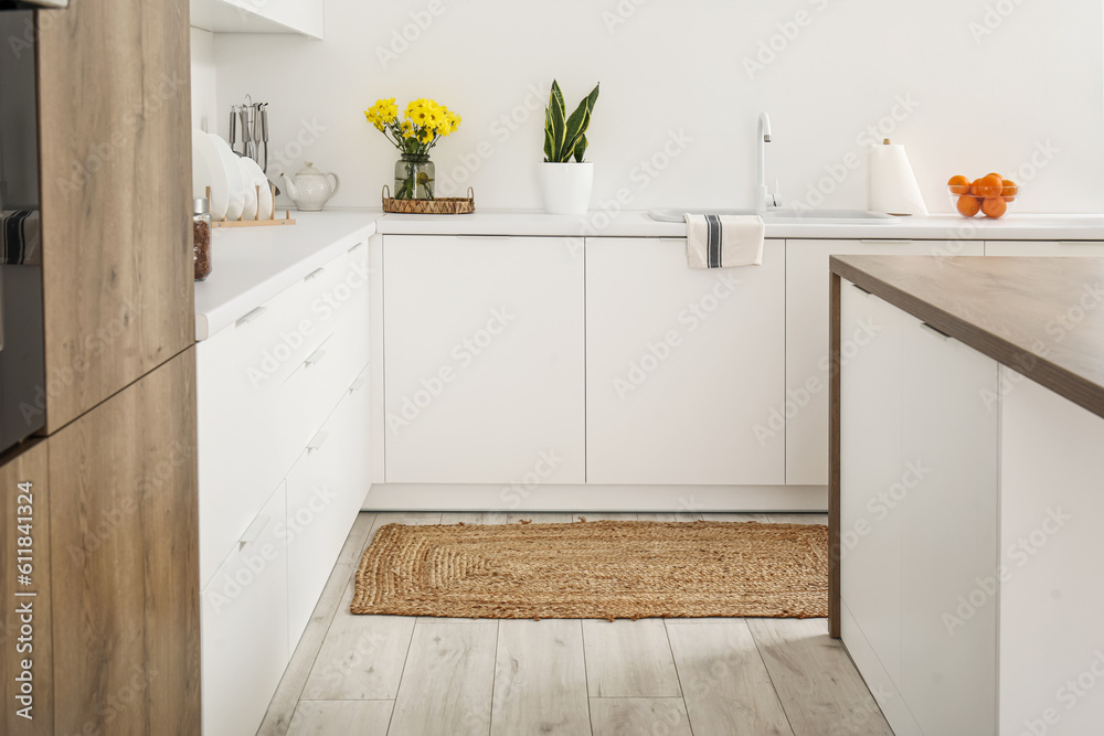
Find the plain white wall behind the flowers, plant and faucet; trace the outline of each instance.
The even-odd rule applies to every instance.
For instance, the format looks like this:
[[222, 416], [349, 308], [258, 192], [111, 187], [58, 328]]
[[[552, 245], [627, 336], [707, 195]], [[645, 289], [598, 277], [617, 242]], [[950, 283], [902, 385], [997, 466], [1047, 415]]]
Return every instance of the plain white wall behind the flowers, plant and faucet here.
[[[933, 212], [949, 211], [952, 174], [1020, 178], [1039, 163], [1021, 211], [1100, 211], [1102, 20], [1097, 0], [327, 0], [325, 41], [217, 35], [217, 106], [269, 102], [277, 159], [283, 149], [291, 171], [309, 159], [338, 172], [335, 206], [379, 206], [396, 158], [362, 110], [426, 96], [464, 116], [434, 152], [438, 194], [455, 173], [482, 209], [539, 207], [555, 75], [569, 104], [602, 82], [594, 207], [620, 189], [631, 209], [750, 205], [763, 109], [768, 175], [789, 203], [820, 203], [819, 183], [824, 206], [864, 205], [864, 151], [889, 132]], [[749, 72], [772, 43], [773, 60], [767, 50]]]

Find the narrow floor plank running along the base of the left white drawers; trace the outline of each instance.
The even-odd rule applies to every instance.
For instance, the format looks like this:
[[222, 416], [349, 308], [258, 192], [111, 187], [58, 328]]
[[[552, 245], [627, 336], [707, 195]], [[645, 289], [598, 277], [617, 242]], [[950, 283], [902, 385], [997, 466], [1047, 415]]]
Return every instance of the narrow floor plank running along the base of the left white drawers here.
[[288, 724], [291, 722], [291, 714], [295, 713], [296, 703], [302, 694], [302, 689], [310, 676], [310, 670], [315, 665], [315, 658], [318, 655], [322, 642], [333, 621], [333, 616], [341, 605], [341, 599], [349, 590], [349, 582], [352, 579], [352, 565], [335, 565], [330, 572], [330, 577], [322, 588], [322, 595], [315, 605], [315, 610], [310, 615], [307, 628], [299, 639], [299, 646], [291, 653], [291, 660], [284, 676], [276, 687], [268, 704], [268, 712], [265, 713], [264, 721], [261, 722], [261, 729], [257, 736], [284, 736], [287, 733]]

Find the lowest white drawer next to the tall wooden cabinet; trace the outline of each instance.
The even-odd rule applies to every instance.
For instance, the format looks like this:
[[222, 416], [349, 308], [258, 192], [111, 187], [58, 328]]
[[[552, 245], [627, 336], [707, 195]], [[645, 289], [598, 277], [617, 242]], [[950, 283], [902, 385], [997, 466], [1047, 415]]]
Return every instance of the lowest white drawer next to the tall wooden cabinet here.
[[283, 484], [201, 594], [203, 734], [254, 734], [284, 676], [287, 550]]

